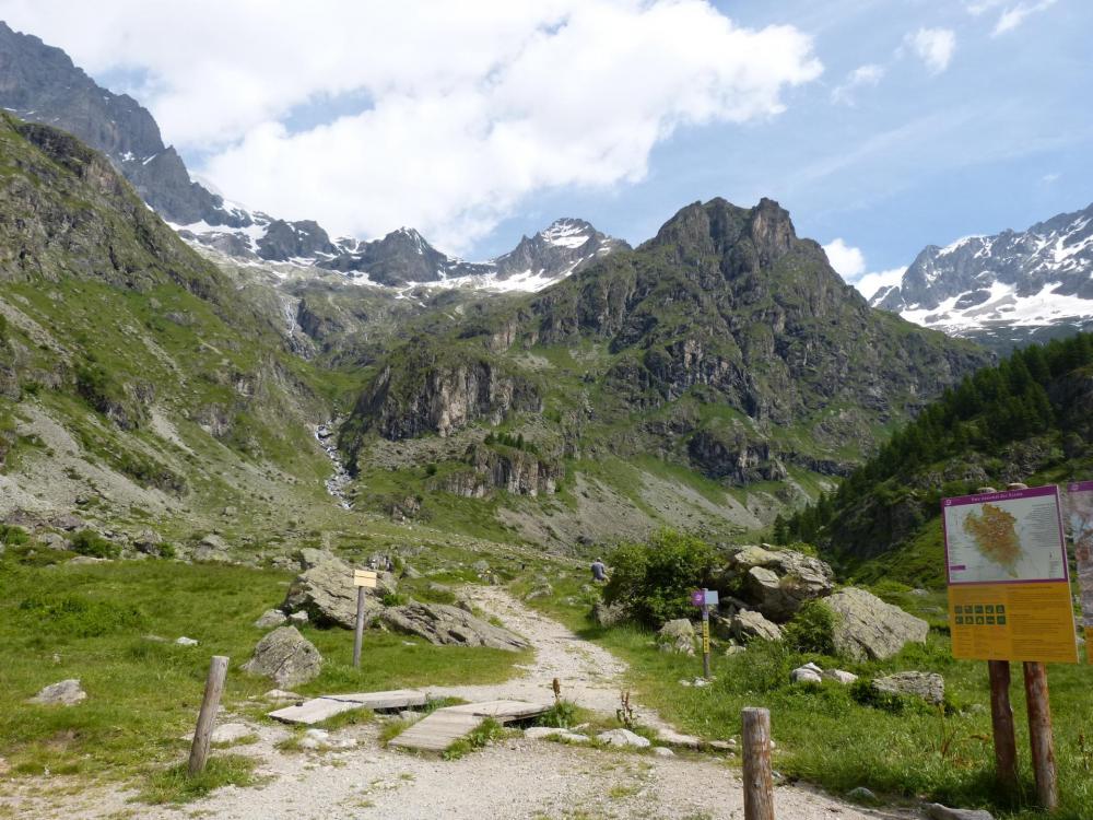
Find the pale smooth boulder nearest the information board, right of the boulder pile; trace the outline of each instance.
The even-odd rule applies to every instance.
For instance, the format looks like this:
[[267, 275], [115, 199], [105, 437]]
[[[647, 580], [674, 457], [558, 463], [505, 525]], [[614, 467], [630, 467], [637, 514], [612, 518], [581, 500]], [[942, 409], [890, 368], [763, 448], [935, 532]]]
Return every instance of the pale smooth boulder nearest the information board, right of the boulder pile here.
[[824, 598], [835, 616], [835, 651], [855, 660], [883, 660], [908, 643], [925, 643], [929, 624], [865, 589], [847, 587]]

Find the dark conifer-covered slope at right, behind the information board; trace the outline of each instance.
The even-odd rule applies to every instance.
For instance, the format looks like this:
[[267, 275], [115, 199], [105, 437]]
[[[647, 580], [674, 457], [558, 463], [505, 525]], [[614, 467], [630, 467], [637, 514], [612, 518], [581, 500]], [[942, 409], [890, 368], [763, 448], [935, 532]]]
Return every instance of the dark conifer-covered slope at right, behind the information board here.
[[1093, 335], [1030, 345], [947, 390], [830, 497], [776, 527], [867, 578], [940, 586], [940, 501], [1093, 472]]

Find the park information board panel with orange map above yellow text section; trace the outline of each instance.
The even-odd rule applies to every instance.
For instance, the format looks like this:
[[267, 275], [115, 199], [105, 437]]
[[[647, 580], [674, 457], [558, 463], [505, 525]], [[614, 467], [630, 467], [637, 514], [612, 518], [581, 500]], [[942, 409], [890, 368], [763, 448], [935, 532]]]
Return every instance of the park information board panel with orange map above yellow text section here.
[[1057, 487], [941, 502], [953, 655], [1077, 663]]

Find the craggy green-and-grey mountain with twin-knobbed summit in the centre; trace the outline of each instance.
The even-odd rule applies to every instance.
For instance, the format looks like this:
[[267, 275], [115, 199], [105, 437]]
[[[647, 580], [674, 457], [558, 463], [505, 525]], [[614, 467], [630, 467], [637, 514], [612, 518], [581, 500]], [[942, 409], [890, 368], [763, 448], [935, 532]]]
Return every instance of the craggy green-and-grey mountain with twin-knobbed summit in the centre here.
[[[449, 318], [367, 365], [341, 437], [362, 494], [425, 490], [428, 507], [502, 488], [554, 508], [562, 540], [610, 526], [581, 512], [595, 492], [648, 507], [650, 470], [747, 512], [692, 511], [696, 526], [757, 526], [988, 361], [871, 311], [769, 200], [689, 206], [636, 250]], [[640, 466], [596, 466], [620, 460]]]

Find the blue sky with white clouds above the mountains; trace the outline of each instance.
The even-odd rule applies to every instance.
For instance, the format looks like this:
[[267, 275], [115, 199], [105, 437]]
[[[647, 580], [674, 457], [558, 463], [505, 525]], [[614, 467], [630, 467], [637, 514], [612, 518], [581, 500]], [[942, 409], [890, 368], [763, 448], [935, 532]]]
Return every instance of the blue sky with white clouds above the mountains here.
[[771, 197], [870, 295], [1093, 201], [1089, 0], [0, 0], [218, 192], [481, 259]]

